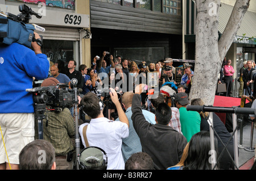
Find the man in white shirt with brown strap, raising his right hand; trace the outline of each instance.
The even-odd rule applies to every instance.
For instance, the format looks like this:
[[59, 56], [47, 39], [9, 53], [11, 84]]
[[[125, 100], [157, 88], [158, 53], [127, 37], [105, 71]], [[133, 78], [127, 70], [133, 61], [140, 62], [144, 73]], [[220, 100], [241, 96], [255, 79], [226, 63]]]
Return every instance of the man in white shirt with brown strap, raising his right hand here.
[[103, 103], [96, 94], [88, 92], [81, 101], [82, 110], [92, 119], [81, 124], [79, 133], [82, 144], [97, 146], [108, 153], [108, 170], [123, 170], [125, 162], [122, 156], [122, 138], [129, 136], [129, 121], [118, 100], [117, 92], [110, 88], [109, 94], [117, 108], [120, 121], [110, 121], [103, 115]]

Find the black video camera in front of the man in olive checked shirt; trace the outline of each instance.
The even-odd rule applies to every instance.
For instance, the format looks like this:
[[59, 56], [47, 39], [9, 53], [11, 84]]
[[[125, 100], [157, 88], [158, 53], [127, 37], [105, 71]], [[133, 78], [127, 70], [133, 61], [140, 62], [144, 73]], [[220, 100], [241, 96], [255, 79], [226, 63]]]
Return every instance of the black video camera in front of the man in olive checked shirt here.
[[63, 111], [64, 108], [70, 108], [75, 103], [75, 92], [73, 89], [69, 89], [68, 85], [61, 83], [57, 84], [57, 86], [35, 87], [26, 89], [26, 91], [34, 93], [35, 105], [45, 104], [47, 110], [50, 111]]

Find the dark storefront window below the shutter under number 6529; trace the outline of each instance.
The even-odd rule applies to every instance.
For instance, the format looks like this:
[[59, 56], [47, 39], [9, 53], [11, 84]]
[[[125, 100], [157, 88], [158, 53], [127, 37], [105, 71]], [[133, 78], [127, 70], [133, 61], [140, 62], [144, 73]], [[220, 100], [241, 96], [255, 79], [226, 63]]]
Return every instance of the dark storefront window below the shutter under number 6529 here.
[[[67, 65], [69, 60], [75, 60], [74, 48], [74, 41], [43, 40], [42, 53], [46, 54], [53, 64], [63, 61]], [[76, 62], [79, 65], [79, 61]]]

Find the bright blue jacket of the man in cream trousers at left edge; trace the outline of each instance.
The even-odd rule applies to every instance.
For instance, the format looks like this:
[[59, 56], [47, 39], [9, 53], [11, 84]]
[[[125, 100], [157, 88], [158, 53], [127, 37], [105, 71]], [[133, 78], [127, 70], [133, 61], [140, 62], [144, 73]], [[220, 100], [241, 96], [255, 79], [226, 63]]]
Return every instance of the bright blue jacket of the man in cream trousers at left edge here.
[[33, 95], [26, 92], [32, 81], [48, 77], [49, 61], [45, 54], [13, 43], [0, 46], [0, 113], [34, 112]]

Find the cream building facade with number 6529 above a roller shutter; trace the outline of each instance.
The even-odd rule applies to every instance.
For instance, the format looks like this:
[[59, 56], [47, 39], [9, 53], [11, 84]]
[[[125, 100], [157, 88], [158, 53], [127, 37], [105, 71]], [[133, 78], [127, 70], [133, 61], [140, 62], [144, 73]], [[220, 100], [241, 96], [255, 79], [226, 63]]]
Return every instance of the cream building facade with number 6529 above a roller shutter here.
[[[30, 24], [45, 29], [42, 52], [51, 64], [76, 60], [77, 65], [90, 64], [90, 11], [84, 0], [0, 0], [1, 11], [18, 15], [19, 5], [26, 4], [42, 18], [32, 15]], [[86, 36], [87, 35], [87, 36]], [[77, 66], [78, 69], [78, 66]]]

